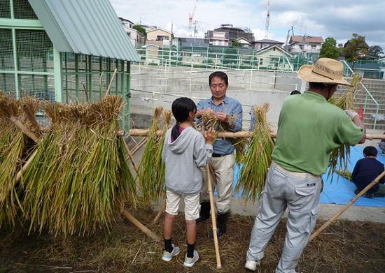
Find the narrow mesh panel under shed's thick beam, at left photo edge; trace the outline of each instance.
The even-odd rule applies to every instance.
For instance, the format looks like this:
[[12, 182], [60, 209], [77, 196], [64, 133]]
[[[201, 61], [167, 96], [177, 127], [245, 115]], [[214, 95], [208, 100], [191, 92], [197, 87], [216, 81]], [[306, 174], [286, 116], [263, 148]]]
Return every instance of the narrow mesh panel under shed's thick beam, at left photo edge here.
[[0, 29], [0, 70], [13, 71], [14, 68], [12, 31], [10, 29]]

